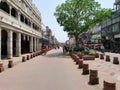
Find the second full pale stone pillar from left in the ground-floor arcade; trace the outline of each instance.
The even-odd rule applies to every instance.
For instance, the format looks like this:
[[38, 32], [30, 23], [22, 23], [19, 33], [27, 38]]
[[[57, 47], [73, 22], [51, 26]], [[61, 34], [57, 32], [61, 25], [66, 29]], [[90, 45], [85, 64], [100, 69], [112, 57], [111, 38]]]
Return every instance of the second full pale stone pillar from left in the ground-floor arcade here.
[[21, 33], [17, 33], [16, 38], [16, 56], [21, 56]]

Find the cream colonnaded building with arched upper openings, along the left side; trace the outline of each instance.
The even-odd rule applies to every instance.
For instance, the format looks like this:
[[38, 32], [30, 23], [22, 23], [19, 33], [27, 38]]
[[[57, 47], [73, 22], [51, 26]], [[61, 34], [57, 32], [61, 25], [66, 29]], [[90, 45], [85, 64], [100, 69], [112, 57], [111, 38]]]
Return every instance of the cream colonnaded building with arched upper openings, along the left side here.
[[41, 14], [32, 0], [0, 0], [0, 59], [40, 50]]

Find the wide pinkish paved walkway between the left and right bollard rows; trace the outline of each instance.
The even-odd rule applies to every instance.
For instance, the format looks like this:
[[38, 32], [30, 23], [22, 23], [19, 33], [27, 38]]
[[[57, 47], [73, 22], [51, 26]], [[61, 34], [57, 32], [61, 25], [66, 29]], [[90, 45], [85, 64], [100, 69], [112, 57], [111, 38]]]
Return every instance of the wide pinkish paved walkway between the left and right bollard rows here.
[[52, 50], [0, 73], [0, 90], [101, 90], [81, 73], [62, 49]]

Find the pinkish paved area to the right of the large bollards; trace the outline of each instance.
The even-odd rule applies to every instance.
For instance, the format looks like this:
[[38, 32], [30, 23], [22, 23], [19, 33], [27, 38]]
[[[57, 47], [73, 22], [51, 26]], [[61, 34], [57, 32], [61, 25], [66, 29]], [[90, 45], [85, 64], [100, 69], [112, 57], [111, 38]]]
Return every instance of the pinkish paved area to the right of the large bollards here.
[[[101, 54], [101, 52], [97, 52]], [[106, 55], [110, 56], [110, 62], [106, 62]], [[113, 57], [118, 57], [120, 62], [120, 54], [105, 52], [104, 60], [96, 58], [95, 61], [84, 61], [89, 64], [90, 69], [98, 70], [98, 76], [100, 80], [100, 87], [103, 87], [103, 81], [116, 83], [116, 90], [120, 90], [120, 63], [118, 65], [113, 64]]]

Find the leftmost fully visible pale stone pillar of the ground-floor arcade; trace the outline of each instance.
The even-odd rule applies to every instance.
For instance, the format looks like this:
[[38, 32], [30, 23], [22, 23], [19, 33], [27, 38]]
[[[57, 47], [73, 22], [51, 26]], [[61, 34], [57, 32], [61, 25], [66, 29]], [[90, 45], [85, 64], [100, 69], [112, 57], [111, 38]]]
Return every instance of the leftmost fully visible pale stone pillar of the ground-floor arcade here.
[[13, 47], [12, 35], [13, 35], [13, 32], [11, 30], [8, 31], [7, 58], [9, 58], [9, 59], [11, 59], [13, 57], [13, 55], [12, 55], [12, 52], [13, 52], [13, 50], [12, 50], [12, 47]]

